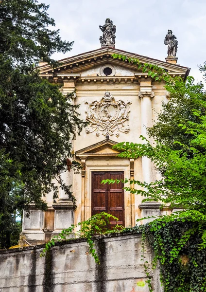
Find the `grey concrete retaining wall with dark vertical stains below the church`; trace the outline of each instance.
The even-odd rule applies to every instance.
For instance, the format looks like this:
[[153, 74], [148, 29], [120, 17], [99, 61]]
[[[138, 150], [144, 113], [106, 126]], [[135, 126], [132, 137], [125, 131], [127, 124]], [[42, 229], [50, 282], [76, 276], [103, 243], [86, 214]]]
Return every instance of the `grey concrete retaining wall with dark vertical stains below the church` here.
[[[85, 239], [52, 247], [45, 257], [39, 257], [40, 245], [1, 250], [0, 292], [148, 292], [140, 234], [102, 236], [95, 242], [100, 265]], [[145, 256], [151, 263], [149, 247]], [[152, 273], [154, 292], [161, 292], [158, 271]]]

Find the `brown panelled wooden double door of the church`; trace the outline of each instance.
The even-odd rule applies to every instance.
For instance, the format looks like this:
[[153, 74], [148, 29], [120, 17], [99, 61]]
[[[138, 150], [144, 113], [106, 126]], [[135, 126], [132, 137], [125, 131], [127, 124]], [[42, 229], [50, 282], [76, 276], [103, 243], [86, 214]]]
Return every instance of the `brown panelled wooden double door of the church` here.
[[91, 209], [92, 215], [106, 212], [114, 215], [119, 220], [110, 224], [124, 226], [124, 190], [123, 183], [101, 183], [106, 179], [124, 179], [123, 171], [98, 171], [92, 172]]

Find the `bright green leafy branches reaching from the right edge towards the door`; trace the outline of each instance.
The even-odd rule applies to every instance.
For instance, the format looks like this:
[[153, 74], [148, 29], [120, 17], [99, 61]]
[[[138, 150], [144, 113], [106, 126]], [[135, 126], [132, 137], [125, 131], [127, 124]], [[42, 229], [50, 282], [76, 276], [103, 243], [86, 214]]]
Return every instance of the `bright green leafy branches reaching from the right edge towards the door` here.
[[125, 179], [123, 183], [139, 187], [125, 186], [124, 189], [144, 196], [143, 201], [161, 201], [163, 205], [170, 204], [171, 208], [205, 209], [206, 157], [202, 150], [186, 145], [182, 145], [180, 150], [172, 150], [157, 141], [154, 146], [145, 139], [143, 141], [145, 144], [120, 143], [115, 148], [123, 150], [119, 155], [122, 158], [150, 158], [161, 173], [162, 180], [147, 183]]

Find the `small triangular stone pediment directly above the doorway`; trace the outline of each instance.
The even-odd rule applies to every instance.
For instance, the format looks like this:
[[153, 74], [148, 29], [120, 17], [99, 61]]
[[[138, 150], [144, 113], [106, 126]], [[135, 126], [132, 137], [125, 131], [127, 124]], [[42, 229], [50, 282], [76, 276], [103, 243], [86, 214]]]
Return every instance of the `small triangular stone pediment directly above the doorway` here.
[[94, 158], [94, 157], [117, 157], [121, 152], [113, 149], [113, 146], [118, 144], [110, 139], [105, 139], [99, 143], [87, 146], [75, 152], [76, 157], [79, 158]]

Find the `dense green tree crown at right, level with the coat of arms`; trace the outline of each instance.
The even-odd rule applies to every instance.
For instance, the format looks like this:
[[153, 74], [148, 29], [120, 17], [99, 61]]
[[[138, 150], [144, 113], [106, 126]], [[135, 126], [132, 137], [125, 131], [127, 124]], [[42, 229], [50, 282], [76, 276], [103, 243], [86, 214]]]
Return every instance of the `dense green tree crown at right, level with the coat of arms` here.
[[190, 76], [186, 83], [178, 81], [175, 86], [166, 86], [166, 89], [170, 93], [170, 102], [163, 103], [158, 121], [153, 128], [148, 128], [148, 134], [172, 149], [181, 149], [174, 142], [179, 141], [189, 146], [194, 139], [192, 132], [187, 131], [186, 127], [201, 123], [201, 116], [205, 116], [206, 93], [204, 85], [195, 84]]

